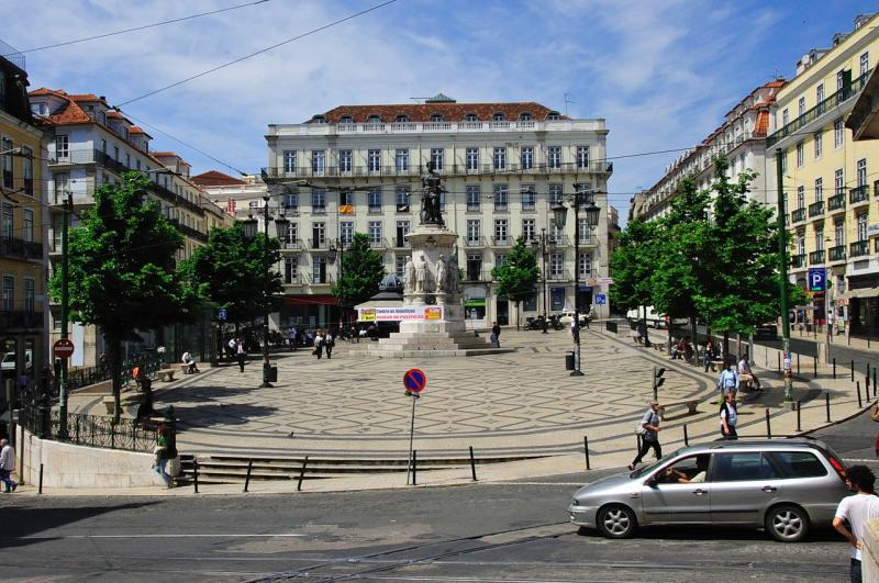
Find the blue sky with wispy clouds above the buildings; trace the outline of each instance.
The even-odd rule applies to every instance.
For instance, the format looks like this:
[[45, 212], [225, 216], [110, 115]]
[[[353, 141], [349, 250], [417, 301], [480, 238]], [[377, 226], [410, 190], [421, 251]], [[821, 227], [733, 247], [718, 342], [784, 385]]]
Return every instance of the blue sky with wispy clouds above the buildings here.
[[[0, 38], [27, 49], [246, 3], [247, 0], [12, 0]], [[26, 53], [31, 87], [123, 103], [279, 43], [374, 1], [269, 0], [198, 20]], [[687, 148], [758, 85], [792, 77], [810, 48], [848, 32], [866, 0], [398, 0], [123, 112], [233, 168], [266, 166], [270, 123], [298, 123], [340, 104], [538, 101], [605, 117], [609, 157]], [[877, 58], [879, 60], [879, 57]], [[232, 170], [153, 127], [153, 147], [193, 172]], [[621, 158], [609, 183], [621, 217], [677, 153]]]

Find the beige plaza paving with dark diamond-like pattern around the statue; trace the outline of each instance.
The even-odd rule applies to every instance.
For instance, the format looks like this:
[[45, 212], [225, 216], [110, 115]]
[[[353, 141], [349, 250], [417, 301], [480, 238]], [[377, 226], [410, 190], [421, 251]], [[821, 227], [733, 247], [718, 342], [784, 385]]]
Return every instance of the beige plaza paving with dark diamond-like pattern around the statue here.
[[633, 439], [654, 365], [668, 369], [664, 400], [713, 395], [698, 369], [670, 366], [625, 340], [585, 332], [579, 378], [564, 370], [567, 332], [504, 330], [504, 347], [518, 352], [453, 359], [354, 357], [348, 345], [337, 345], [332, 360], [308, 350], [279, 355], [271, 389], [257, 388], [262, 369], [254, 360], [244, 373], [222, 367], [187, 379], [157, 401], [183, 419], [186, 451], [396, 456], [408, 447], [412, 407], [402, 375], [421, 368], [429, 380], [416, 402], [418, 449], [460, 455], [472, 445], [500, 456], [570, 451], [587, 430], [590, 442]]

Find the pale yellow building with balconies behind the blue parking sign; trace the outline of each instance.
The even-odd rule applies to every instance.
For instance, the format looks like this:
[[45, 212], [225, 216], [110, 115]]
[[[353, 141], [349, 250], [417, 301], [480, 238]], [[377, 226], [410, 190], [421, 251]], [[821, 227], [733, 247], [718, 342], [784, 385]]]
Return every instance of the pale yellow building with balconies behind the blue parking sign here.
[[[879, 143], [845, 120], [879, 59], [879, 14], [859, 15], [830, 48], [812, 49], [776, 96], [767, 155], [780, 153], [792, 234], [791, 280], [824, 269], [828, 303], [852, 334], [879, 332]], [[775, 160], [772, 160], [775, 161]], [[775, 168], [771, 166], [770, 168]], [[872, 210], [876, 209], [876, 210]], [[824, 323], [824, 298], [804, 311]]]

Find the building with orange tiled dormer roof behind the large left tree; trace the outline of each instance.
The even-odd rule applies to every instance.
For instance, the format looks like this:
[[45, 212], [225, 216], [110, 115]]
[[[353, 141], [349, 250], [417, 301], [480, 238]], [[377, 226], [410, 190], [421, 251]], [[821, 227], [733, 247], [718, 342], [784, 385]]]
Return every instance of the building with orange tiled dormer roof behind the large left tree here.
[[[46, 186], [51, 209], [48, 257], [52, 271], [62, 259], [62, 227], [64, 204], [70, 198], [74, 216], [70, 226], [79, 224], [78, 213], [92, 204], [96, 189], [122, 181], [130, 171], [140, 171], [151, 180], [148, 195], [162, 206], [162, 212], [183, 235], [183, 247], [177, 259], [189, 257], [194, 248], [208, 240], [208, 228], [218, 217], [224, 217], [201, 189], [189, 178], [189, 165], [171, 152], [153, 152], [152, 137], [134, 125], [102, 96], [74, 94], [62, 89], [36, 89], [30, 93], [31, 111], [46, 128]], [[205, 212], [205, 209], [209, 211]], [[93, 326], [71, 323], [68, 337], [75, 345], [71, 366], [94, 366], [103, 352], [103, 339]], [[144, 346], [127, 346], [129, 351], [163, 344], [173, 355], [190, 350], [196, 355], [209, 346], [204, 326], [192, 329], [171, 326], [159, 337], [145, 336]], [[60, 305], [52, 305], [53, 337], [60, 335]], [[54, 339], [54, 338], [53, 338]]]

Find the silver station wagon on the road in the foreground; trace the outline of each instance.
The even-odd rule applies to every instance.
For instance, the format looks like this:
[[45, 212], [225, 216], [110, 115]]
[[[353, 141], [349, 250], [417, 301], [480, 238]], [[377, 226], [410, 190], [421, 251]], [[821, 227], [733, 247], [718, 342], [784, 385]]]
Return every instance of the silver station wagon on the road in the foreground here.
[[810, 438], [738, 440], [679, 449], [650, 466], [581, 487], [570, 520], [610, 538], [638, 526], [750, 525], [776, 540], [802, 540], [830, 525], [848, 495], [845, 466]]

